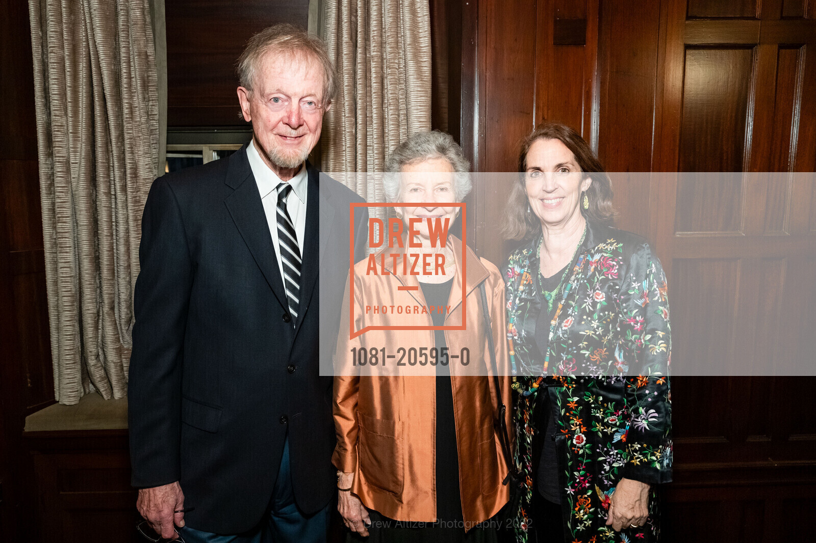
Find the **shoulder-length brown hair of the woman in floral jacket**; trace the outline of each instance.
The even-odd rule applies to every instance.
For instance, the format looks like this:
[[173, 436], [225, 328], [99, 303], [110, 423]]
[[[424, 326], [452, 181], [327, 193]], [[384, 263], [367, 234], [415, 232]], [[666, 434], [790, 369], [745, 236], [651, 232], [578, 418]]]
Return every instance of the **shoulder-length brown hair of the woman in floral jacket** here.
[[583, 138], [561, 122], [548, 121], [535, 128], [530, 135], [521, 139], [518, 153], [518, 182], [513, 183], [510, 198], [505, 210], [505, 220], [502, 233], [508, 240], [521, 240], [536, 236], [541, 232], [539, 218], [530, 210], [525, 187], [525, 173], [527, 170], [527, 153], [530, 147], [539, 139], [557, 139], [570, 149], [578, 162], [581, 171], [588, 174], [592, 184], [587, 189], [589, 209], [584, 210], [579, 204], [583, 216], [592, 223], [611, 224], [614, 219], [612, 209], [612, 181], [605, 174], [601, 162]]

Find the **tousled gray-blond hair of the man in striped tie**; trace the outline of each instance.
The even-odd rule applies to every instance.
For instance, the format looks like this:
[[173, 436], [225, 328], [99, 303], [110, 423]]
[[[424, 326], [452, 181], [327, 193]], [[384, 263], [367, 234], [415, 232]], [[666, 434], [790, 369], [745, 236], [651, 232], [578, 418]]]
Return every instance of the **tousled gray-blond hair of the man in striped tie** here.
[[250, 38], [249, 42], [246, 42], [244, 52], [238, 57], [235, 71], [238, 75], [238, 82], [247, 91], [252, 92], [255, 73], [260, 61], [270, 52], [291, 55], [300, 59], [312, 57], [312, 60], [317, 60], [323, 68], [324, 75], [322, 105], [326, 106], [335, 99], [337, 74], [329, 58], [326, 43], [301, 27], [288, 23], [275, 24], [263, 29]]

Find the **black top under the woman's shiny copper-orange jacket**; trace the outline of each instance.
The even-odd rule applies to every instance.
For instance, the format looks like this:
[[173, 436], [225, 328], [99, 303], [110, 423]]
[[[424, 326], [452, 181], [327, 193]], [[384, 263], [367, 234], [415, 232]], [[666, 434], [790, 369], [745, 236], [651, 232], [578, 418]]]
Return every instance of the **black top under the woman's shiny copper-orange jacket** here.
[[[425, 305], [446, 307], [453, 279], [444, 283], [419, 283]], [[434, 326], [445, 324], [445, 311], [433, 311]], [[434, 330], [437, 353], [446, 347], [445, 331]], [[438, 354], [437, 354], [437, 360]], [[454, 395], [450, 384], [450, 368], [437, 364], [437, 519], [463, 520], [462, 497], [459, 492], [459, 456], [456, 447]]]

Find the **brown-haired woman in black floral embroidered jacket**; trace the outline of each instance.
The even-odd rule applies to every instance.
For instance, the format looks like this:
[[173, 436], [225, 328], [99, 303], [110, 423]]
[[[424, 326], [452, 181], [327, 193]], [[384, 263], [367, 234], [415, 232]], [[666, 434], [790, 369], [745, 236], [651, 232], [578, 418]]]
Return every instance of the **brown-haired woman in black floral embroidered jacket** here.
[[666, 278], [609, 227], [610, 180], [567, 126], [521, 144], [503, 267], [515, 374], [518, 541], [658, 541], [672, 479]]

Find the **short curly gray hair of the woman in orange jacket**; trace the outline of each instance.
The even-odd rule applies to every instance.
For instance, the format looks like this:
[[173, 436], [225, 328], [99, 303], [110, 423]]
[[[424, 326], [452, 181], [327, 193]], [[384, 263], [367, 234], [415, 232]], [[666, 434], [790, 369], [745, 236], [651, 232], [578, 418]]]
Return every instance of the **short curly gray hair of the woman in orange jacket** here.
[[386, 174], [383, 176], [385, 197], [388, 201], [397, 201], [400, 196], [400, 176], [404, 166], [432, 158], [444, 158], [456, 172], [454, 179], [454, 197], [463, 201], [472, 188], [470, 181], [470, 162], [464, 157], [462, 148], [453, 136], [429, 130], [417, 132], [397, 145], [385, 161]]

